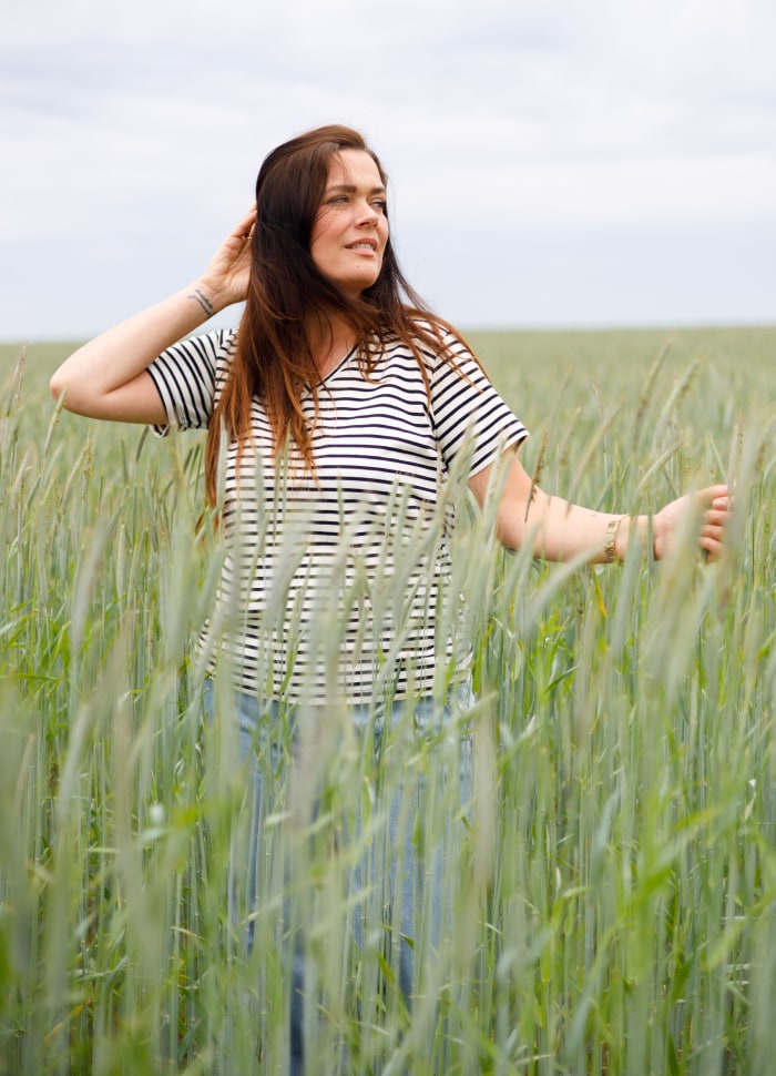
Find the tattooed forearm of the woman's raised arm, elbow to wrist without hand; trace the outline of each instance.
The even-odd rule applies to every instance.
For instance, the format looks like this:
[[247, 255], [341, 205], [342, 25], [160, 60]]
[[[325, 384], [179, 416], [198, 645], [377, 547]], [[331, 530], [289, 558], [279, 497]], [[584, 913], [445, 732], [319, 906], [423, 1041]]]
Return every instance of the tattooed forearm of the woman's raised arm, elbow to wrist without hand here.
[[111, 395], [134, 382], [165, 347], [206, 322], [216, 302], [196, 281], [115, 325], [65, 359], [51, 378], [52, 395], [59, 398], [64, 392], [64, 406], [78, 414], [116, 417], [103, 413], [112, 408]]

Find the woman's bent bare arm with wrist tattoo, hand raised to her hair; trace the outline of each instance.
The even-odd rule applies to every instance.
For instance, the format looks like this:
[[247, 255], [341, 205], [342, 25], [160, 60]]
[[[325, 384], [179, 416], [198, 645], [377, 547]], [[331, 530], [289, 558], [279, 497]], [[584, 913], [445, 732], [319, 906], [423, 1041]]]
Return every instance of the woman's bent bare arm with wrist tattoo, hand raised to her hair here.
[[255, 220], [254, 207], [188, 287], [108, 329], [67, 358], [51, 378], [54, 398], [64, 393], [63, 406], [89, 418], [164, 423], [164, 407], [147, 367], [165, 347], [245, 298]]

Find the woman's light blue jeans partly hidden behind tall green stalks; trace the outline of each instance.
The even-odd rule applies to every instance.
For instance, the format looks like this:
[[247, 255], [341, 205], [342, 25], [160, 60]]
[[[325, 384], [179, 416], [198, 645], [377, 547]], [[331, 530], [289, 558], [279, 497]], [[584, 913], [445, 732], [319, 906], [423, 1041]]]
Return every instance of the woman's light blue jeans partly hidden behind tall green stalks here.
[[[215, 698], [208, 681], [205, 703], [211, 717]], [[232, 699], [238, 721], [239, 758], [247, 775], [247, 849], [236, 855], [229, 883], [233, 921], [243, 924], [247, 951], [253, 948], [255, 916], [266, 892], [266, 821], [285, 814], [300, 820], [303, 829], [313, 825], [325, 811], [333, 764], [336, 783], [339, 760], [347, 755], [346, 780], [357, 788], [336, 841], [357, 850], [346, 856], [343, 894], [353, 908], [353, 945], [363, 956], [365, 948], [374, 951], [375, 937], [379, 938], [380, 957], [392, 968], [404, 1003], [411, 1008], [413, 995], [423, 988], [413, 952], [436, 953], [450, 930], [455, 871], [449, 861], [458, 855], [458, 833], [471, 795], [471, 733], [464, 724], [474, 702], [470, 684], [451, 688], [442, 702], [422, 697], [398, 700], [388, 708], [351, 706], [334, 721], [325, 708], [295, 711], [239, 691], [226, 698]], [[349, 791], [337, 789], [346, 799]], [[292, 884], [292, 889], [299, 892], [298, 886]], [[298, 913], [298, 903], [296, 907]], [[290, 915], [295, 917], [293, 911]], [[289, 1070], [300, 1074], [303, 998], [315, 987], [305, 940], [308, 924], [290, 926]], [[418, 945], [421, 935], [422, 947]]]

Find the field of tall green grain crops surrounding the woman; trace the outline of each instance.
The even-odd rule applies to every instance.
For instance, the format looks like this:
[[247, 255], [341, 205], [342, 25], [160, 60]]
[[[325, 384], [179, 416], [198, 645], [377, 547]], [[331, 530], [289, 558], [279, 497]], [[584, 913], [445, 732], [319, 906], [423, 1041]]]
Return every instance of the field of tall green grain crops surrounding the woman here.
[[67, 345], [0, 347], [0, 1074], [283, 1072], [298, 921], [310, 1073], [774, 1072], [776, 329], [471, 343], [543, 488], [626, 512], [726, 480], [736, 511], [719, 564], [687, 531], [596, 569], [462, 521], [474, 795], [411, 1014], [347, 882], [408, 772], [420, 854], [450, 826], [457, 743], [397, 739], [375, 773], [334, 713], [314, 813], [268, 774], [248, 953], [244, 774], [192, 650], [219, 557], [202, 440], [58, 414]]

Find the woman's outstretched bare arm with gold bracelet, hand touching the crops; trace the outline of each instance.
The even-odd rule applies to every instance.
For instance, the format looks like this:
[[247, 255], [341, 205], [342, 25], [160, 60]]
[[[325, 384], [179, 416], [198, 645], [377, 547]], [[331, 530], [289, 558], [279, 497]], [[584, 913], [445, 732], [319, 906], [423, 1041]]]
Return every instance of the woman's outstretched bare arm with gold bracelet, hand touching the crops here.
[[[478, 471], [469, 486], [480, 506], [489, 496], [498, 496], [496, 527], [499, 539], [511, 549], [520, 549], [531, 541], [533, 552], [544, 560], [571, 560], [588, 552], [591, 564], [623, 560], [631, 541], [642, 546], [647, 540], [647, 516], [619, 516], [572, 505], [560, 497], [551, 497], [533, 485], [517, 455], [506, 460], [507, 473], [496, 486], [494, 467]], [[709, 560], [722, 552], [725, 520], [729, 501], [726, 486], [709, 486], [697, 494], [671, 501], [652, 517], [653, 552], [662, 559], [670, 551], [683, 517], [694, 508], [696, 499], [702, 511], [698, 521], [698, 545]]]

